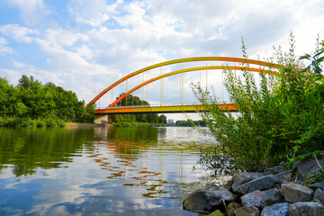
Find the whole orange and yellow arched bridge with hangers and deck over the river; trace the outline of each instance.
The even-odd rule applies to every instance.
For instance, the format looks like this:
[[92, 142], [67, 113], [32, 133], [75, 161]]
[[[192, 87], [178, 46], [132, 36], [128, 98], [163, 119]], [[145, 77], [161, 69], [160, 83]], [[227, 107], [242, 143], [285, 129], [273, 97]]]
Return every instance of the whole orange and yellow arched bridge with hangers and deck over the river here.
[[[186, 62], [205, 62], [205, 66], [202, 67], [186, 67], [184, 68], [184, 63]], [[162, 73], [162, 67], [166, 66], [173, 66], [176, 64], [182, 64], [182, 68], [171, 71], [168, 73], [163, 74]], [[202, 64], [202, 63], [200, 63]], [[218, 65], [215, 65], [218, 64]], [[238, 66], [236, 65], [238, 64]], [[155, 76], [153, 78], [150, 78], [148, 80], [144, 80], [144, 73], [155, 69], [155, 68], [161, 68], [161, 73], [158, 76]], [[279, 68], [278, 65], [269, 63], [266, 61], [260, 61], [260, 60], [254, 60], [254, 59], [247, 59], [247, 58], [230, 58], [230, 57], [195, 57], [195, 58], [180, 58], [175, 60], [169, 60], [165, 62], [161, 62], [152, 66], [141, 68], [133, 73], [130, 73], [127, 76], [123, 76], [121, 79], [114, 82], [112, 85], [109, 85], [106, 89], [103, 90], [100, 94], [96, 95], [94, 99], [88, 103], [86, 106], [89, 106], [92, 103], [99, 103], [97, 104], [97, 109], [94, 113], [96, 114], [115, 114], [115, 113], [143, 113], [143, 112], [158, 112], [158, 113], [168, 113], [168, 112], [196, 112], [197, 108], [198, 110], [203, 110], [202, 105], [200, 104], [185, 104], [183, 102], [183, 93], [184, 93], [184, 81], [183, 81], [183, 74], [193, 71], [205, 71], [205, 77], [206, 77], [206, 89], [208, 85], [208, 71], [211, 72], [221, 72], [223, 73], [224, 69], [231, 69], [231, 70], [238, 70], [241, 71], [243, 69], [258, 72], [258, 73], [266, 73], [266, 74], [276, 74], [277, 69]], [[128, 89], [128, 80], [133, 76], [140, 76], [142, 75], [142, 81], [136, 85], [135, 87], [132, 87], [130, 90]], [[180, 102], [178, 104], [164, 104], [163, 103], [163, 78], [166, 78], [168, 76], [175, 76], [180, 75], [180, 82], [179, 82], [179, 89], [180, 90]], [[147, 88], [147, 98], [148, 98], [148, 85], [151, 83], [156, 82], [157, 80], [161, 81], [161, 90], [160, 90], [160, 104], [158, 105], [145, 105], [143, 103], [144, 101], [144, 90], [143, 88], [146, 86]], [[112, 103], [110, 103], [109, 106], [106, 107], [100, 107], [100, 98], [103, 97], [104, 94], [107, 94], [108, 92], [113, 93], [113, 89], [117, 85], [121, 85], [121, 83], [126, 82], [126, 89], [125, 93], [121, 95], [118, 99], [114, 100], [112, 99]], [[201, 83], [201, 81], [200, 81]], [[221, 76], [221, 84], [223, 85], [223, 76]], [[142, 104], [139, 106], [116, 106], [118, 103], [121, 103], [122, 99], [127, 100], [127, 96], [130, 94], [134, 94], [135, 91], [142, 89]], [[223, 91], [223, 90], [222, 90]], [[148, 100], [147, 100], [148, 101]], [[127, 104], [127, 102], [126, 102]], [[224, 107], [224, 104], [220, 104], [221, 107]], [[229, 110], [235, 111], [235, 106], [231, 103], [227, 103], [227, 106]]]

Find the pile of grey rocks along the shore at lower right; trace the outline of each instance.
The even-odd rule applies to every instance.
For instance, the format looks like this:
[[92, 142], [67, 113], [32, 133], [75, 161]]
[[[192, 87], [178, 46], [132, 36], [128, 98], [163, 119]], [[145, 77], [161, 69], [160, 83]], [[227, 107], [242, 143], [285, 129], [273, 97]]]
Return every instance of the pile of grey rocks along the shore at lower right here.
[[226, 185], [207, 184], [190, 193], [184, 210], [210, 216], [324, 216], [324, 182], [306, 184], [324, 159], [282, 162], [264, 172], [241, 172]]

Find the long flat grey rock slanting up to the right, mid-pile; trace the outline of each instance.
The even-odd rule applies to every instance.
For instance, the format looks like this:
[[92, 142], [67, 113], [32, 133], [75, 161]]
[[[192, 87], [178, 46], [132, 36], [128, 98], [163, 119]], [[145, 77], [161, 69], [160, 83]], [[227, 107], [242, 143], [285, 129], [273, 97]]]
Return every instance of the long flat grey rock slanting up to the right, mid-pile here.
[[275, 175], [265, 175], [256, 178], [246, 184], [241, 184], [238, 186], [238, 193], [247, 194], [257, 190], [266, 190], [275, 187], [276, 177]]

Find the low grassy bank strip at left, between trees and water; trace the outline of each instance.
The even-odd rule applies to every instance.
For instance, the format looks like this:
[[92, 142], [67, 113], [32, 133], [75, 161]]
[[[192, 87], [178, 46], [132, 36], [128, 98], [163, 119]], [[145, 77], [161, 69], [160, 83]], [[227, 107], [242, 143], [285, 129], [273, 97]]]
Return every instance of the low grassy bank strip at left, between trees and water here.
[[59, 119], [31, 119], [19, 117], [0, 117], [0, 127], [65, 127], [66, 123]]

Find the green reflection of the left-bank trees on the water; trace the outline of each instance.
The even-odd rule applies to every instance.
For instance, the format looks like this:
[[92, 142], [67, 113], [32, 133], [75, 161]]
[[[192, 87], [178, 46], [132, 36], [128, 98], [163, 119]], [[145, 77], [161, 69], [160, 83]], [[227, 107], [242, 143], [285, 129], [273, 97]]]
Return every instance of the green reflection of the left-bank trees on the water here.
[[8, 166], [16, 176], [58, 168], [81, 157], [83, 144], [93, 137], [94, 130], [0, 128], [0, 172]]

